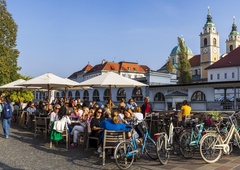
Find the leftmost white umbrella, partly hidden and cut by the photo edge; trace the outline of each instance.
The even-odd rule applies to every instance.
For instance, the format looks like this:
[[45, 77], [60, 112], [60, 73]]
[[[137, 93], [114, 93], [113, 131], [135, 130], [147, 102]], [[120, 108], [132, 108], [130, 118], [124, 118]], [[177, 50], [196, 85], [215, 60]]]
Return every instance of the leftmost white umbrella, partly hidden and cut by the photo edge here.
[[1, 90], [39, 90], [41, 87], [25, 87], [19, 86], [18, 84], [24, 83], [26, 80], [18, 79], [11, 83], [0, 86]]

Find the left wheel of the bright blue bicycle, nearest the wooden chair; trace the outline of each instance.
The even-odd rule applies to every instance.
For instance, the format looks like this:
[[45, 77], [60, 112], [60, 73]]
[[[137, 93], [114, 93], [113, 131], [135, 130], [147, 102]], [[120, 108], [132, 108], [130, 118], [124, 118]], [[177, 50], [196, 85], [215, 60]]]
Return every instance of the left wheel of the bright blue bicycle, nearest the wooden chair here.
[[135, 153], [130, 141], [120, 142], [114, 150], [114, 159], [119, 169], [128, 169], [132, 166]]

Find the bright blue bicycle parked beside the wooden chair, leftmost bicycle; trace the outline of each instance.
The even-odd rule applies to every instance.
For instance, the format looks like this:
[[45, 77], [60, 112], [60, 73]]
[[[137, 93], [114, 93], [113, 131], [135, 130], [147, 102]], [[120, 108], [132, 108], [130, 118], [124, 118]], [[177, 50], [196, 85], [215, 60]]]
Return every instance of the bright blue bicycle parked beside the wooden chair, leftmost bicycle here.
[[[130, 127], [132, 134], [131, 139], [121, 141], [114, 150], [114, 159], [119, 169], [130, 168], [133, 164], [133, 161], [136, 160], [135, 158], [139, 158], [140, 155], [144, 154], [145, 152], [150, 158], [154, 160], [157, 159], [156, 143], [150, 137], [146, 118], [142, 120], [140, 125], [145, 131], [142, 144], [138, 144], [136, 142], [136, 138], [133, 135], [134, 127]], [[139, 147], [139, 145], [141, 145], [141, 147]]]

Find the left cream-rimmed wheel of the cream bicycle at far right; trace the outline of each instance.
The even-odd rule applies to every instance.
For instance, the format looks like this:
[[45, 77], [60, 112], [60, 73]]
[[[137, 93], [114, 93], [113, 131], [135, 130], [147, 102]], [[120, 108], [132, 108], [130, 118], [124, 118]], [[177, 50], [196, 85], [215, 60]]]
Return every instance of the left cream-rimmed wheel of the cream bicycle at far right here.
[[204, 161], [207, 163], [217, 162], [221, 155], [222, 149], [217, 149], [216, 145], [219, 145], [220, 141], [217, 134], [206, 134], [200, 141], [200, 154]]

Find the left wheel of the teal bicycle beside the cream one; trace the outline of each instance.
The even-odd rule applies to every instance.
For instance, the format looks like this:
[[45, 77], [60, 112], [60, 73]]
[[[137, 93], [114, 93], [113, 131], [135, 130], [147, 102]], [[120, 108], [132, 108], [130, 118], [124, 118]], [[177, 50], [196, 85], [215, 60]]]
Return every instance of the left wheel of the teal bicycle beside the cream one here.
[[184, 158], [192, 158], [194, 155], [194, 147], [190, 146], [191, 142], [191, 133], [185, 131], [181, 134], [179, 143], [180, 143], [180, 152]]

